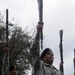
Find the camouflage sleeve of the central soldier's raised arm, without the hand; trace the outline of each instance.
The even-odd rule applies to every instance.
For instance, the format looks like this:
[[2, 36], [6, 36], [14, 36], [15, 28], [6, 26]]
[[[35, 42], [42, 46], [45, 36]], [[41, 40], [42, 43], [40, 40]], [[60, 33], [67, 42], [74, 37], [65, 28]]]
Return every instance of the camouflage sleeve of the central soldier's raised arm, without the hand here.
[[31, 55], [30, 58], [31, 58], [32, 66], [39, 58], [39, 39], [37, 38], [37, 36], [38, 36], [38, 33], [36, 34], [36, 37], [33, 41], [32, 48], [30, 49], [30, 55]]

